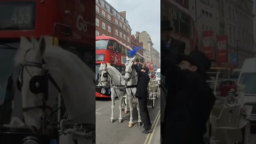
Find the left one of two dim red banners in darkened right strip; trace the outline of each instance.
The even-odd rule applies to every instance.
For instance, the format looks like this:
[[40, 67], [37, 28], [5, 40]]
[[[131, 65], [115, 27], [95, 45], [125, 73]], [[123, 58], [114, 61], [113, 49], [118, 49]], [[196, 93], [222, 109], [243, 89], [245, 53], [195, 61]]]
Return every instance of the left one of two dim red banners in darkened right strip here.
[[210, 59], [214, 60], [213, 31], [203, 31], [203, 52]]

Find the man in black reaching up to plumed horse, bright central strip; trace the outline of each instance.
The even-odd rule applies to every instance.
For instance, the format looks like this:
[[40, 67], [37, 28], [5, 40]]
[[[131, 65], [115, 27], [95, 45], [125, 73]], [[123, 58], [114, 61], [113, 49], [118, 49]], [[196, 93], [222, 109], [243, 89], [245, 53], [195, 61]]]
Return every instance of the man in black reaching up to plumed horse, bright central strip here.
[[135, 93], [135, 97], [139, 99], [141, 121], [144, 124], [144, 130], [142, 133], [149, 133], [151, 129], [151, 122], [147, 108], [148, 83], [150, 80], [148, 76], [149, 69], [147, 67], [139, 68], [137, 63], [135, 63], [133, 67], [138, 74], [137, 91]]

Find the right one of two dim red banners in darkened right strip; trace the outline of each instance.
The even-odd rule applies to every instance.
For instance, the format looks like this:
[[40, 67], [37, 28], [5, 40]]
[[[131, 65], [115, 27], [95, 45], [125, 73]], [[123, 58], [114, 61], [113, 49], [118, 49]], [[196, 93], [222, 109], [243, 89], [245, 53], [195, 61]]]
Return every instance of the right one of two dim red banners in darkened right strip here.
[[217, 61], [218, 62], [227, 62], [228, 50], [227, 50], [227, 35], [217, 36]]

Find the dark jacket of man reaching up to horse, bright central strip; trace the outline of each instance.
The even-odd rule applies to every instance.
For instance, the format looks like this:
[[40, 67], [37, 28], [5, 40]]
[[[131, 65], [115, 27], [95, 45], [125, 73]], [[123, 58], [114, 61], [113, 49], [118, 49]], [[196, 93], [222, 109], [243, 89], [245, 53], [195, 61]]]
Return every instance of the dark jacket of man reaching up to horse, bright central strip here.
[[135, 97], [147, 98], [148, 97], [148, 83], [149, 76], [146, 72], [140, 71], [140, 67], [138, 65], [133, 65], [137, 74], [138, 74], [138, 83], [137, 83], [137, 91], [135, 93]]

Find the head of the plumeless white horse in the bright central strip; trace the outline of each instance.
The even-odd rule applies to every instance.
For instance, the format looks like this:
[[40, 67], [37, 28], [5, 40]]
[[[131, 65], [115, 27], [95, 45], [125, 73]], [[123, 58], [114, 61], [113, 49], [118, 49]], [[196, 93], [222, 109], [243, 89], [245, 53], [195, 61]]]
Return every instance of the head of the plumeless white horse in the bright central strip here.
[[100, 64], [100, 68], [99, 68], [99, 73], [100, 73], [100, 77], [101, 77], [101, 84], [102, 86], [104, 87], [107, 87], [110, 85], [110, 75], [108, 73], [108, 70], [107, 70], [107, 63], [105, 64]]

